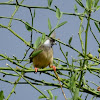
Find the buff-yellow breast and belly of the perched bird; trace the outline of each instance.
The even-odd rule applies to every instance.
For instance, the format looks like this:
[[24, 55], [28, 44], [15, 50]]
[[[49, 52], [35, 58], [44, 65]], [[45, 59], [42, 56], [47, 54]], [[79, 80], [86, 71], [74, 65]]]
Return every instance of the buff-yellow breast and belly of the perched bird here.
[[40, 49], [42, 49], [43, 51], [33, 58], [34, 67], [45, 68], [48, 65], [52, 65], [53, 49], [49, 47], [45, 48], [44, 46], [41, 46], [39, 50]]

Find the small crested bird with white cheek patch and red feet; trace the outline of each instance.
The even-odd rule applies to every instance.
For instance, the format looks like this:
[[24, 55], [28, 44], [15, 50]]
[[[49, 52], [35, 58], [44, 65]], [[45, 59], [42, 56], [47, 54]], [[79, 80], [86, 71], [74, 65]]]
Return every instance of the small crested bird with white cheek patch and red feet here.
[[[38, 71], [39, 68], [45, 68], [49, 66], [56, 71], [56, 67], [53, 66], [53, 45], [56, 44], [55, 42], [56, 33], [52, 33], [49, 38], [43, 44], [40, 44], [39, 48], [35, 49], [29, 56], [30, 63], [33, 62], [33, 66], [35, 68], [35, 72]], [[42, 50], [39, 54], [32, 57], [32, 54], [35, 51]]]

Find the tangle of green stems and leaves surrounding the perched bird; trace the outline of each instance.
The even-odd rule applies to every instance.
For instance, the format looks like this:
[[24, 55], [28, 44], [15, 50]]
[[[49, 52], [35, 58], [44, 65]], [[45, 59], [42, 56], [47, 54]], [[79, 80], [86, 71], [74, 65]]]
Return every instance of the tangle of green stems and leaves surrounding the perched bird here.
[[[0, 29], [4, 28], [5, 30], [9, 30], [16, 38], [20, 39], [28, 47], [28, 49], [26, 50], [24, 57], [22, 59], [18, 59], [16, 56], [13, 56], [13, 58], [12, 58], [12, 57], [10, 57], [6, 54], [2, 54], [0, 52], [0, 61], [1, 62], [3, 60], [7, 60], [12, 65], [17, 66], [16, 68], [11, 67], [9, 64], [6, 64], [7, 67], [0, 66], [0, 73], [4, 74], [4, 76], [9, 75], [9, 76], [13, 76], [13, 77], [16, 77], [16, 76], [18, 77], [18, 79], [15, 82], [11, 82], [7, 79], [4, 79], [4, 77], [3, 78], [0, 77], [0, 81], [14, 85], [11, 92], [9, 93], [8, 97], [6, 97], [6, 100], [8, 100], [13, 93], [15, 93], [15, 88], [16, 88], [17, 84], [20, 83], [21, 78], [23, 78], [27, 84], [32, 86], [32, 88], [34, 88], [36, 91], [38, 91], [41, 94], [40, 96], [38, 96], [38, 99], [42, 99], [42, 98], [46, 98], [47, 100], [57, 100], [58, 99], [58, 95], [54, 96], [52, 91], [60, 88], [60, 85], [55, 83], [55, 80], [57, 80], [57, 77], [55, 76], [55, 74], [51, 73], [51, 71], [52, 71], [51, 68], [39, 69], [38, 71], [41, 73], [44, 73], [46, 75], [49, 75], [50, 77], [53, 77], [54, 83], [46, 82], [45, 80], [38, 80], [38, 79], [31, 78], [29, 76], [26, 76], [25, 73], [35, 72], [34, 69], [27, 66], [27, 64], [29, 63], [29, 59], [26, 57], [28, 55], [29, 50], [36, 49], [41, 41], [42, 41], [42, 43], [45, 41], [45, 36], [49, 37], [55, 30], [60, 29], [61, 27], [65, 26], [67, 24], [67, 22], [69, 22], [69, 21], [65, 20], [62, 22], [61, 19], [63, 18], [63, 16], [65, 16], [65, 17], [66, 16], [74, 16], [74, 17], [77, 16], [79, 18], [80, 26], [79, 26], [78, 36], [79, 36], [79, 40], [80, 40], [79, 44], [81, 44], [81, 50], [82, 50], [82, 51], [79, 51], [78, 49], [74, 48], [74, 46], [72, 45], [73, 38], [75, 38], [73, 36], [71, 36], [69, 38], [68, 43], [64, 43], [59, 39], [55, 39], [55, 41], [59, 43], [59, 49], [60, 49], [63, 57], [66, 59], [66, 61], [63, 61], [62, 59], [54, 58], [54, 64], [57, 66], [57, 73], [60, 76], [62, 88], [70, 91], [71, 98], [69, 98], [67, 93], [65, 93], [67, 100], [82, 100], [82, 95], [85, 93], [87, 95], [84, 97], [85, 98], [84, 100], [87, 100], [87, 97], [89, 94], [93, 96], [91, 98], [91, 100], [93, 100], [96, 97], [100, 98], [99, 85], [94, 83], [95, 81], [91, 82], [92, 84], [94, 84], [97, 87], [97, 89], [93, 89], [91, 86], [88, 85], [88, 81], [85, 79], [85, 75], [87, 72], [89, 72], [90, 75], [92, 74], [92, 75], [95, 75], [96, 77], [100, 78], [100, 76], [99, 76], [100, 68], [98, 67], [100, 64], [100, 59], [99, 59], [100, 58], [100, 42], [99, 42], [98, 37], [93, 32], [94, 31], [93, 28], [91, 27], [91, 25], [92, 25], [91, 21], [93, 21], [93, 23], [96, 27], [96, 30], [98, 31], [98, 33], [100, 33], [100, 21], [92, 18], [92, 13], [95, 13], [98, 10], [100, 11], [100, 5], [98, 5], [100, 3], [100, 1], [99, 0], [86, 0], [86, 4], [84, 4], [82, 0], [75, 0], [75, 1], [76, 1], [76, 4], [73, 7], [75, 13], [62, 12], [60, 8], [58, 8], [56, 5], [53, 5], [54, 0], [48, 0], [47, 7], [24, 5], [23, 4], [24, 0], [22, 0], [21, 2], [19, 2], [19, 0], [16, 0], [15, 3], [13, 3], [13, 0], [9, 0], [8, 2], [2, 2], [2, 3], [0, 2], [0, 6], [1, 5], [15, 6], [15, 11], [11, 15], [11, 17], [0, 16], [0, 18], [10, 20], [7, 26], [0, 23]], [[14, 15], [17, 13], [17, 11], [20, 10], [19, 9], [20, 7], [29, 9], [30, 16], [31, 16], [31, 19], [30, 19], [31, 24], [29, 24], [30, 21], [27, 22], [22, 19], [14, 17]], [[80, 7], [83, 9], [83, 12], [81, 12], [81, 13], [78, 12], [78, 9]], [[34, 9], [34, 12], [32, 12], [32, 9]], [[49, 35], [45, 34], [44, 32], [41, 32], [38, 29], [33, 27], [34, 22], [35, 22], [34, 20], [36, 18], [36, 9], [40, 9], [40, 10], [46, 9], [46, 10], [49, 10], [50, 12], [54, 12], [54, 14], [57, 18], [57, 24], [53, 28], [50, 18], [48, 18]], [[27, 42], [24, 38], [19, 36], [13, 30], [13, 28], [11, 28], [12, 21], [14, 21], [14, 20], [20, 21], [22, 24], [24, 24], [27, 32], [31, 33], [31, 35], [29, 35], [30, 36], [29, 42]], [[84, 20], [87, 21], [86, 25], [83, 25]], [[33, 32], [42, 34], [42, 37], [38, 37], [38, 39], [35, 41], [34, 46], [32, 45]], [[99, 58], [97, 56], [93, 56], [92, 53], [90, 53], [90, 52], [88, 53], [88, 51], [89, 51], [87, 48], [88, 47], [88, 39], [89, 39], [88, 34], [90, 34], [90, 33], [92, 34], [93, 38], [95, 39], [95, 41], [98, 45]], [[85, 34], [85, 38], [82, 37], [83, 34]], [[76, 52], [78, 55], [77, 58], [76, 59], [72, 58], [72, 61], [69, 60], [69, 52], [66, 51], [66, 53], [64, 53], [62, 45], [65, 46], [66, 48], [70, 48], [71, 50], [73, 50], [73, 52]], [[36, 56], [40, 52], [42, 52], [42, 51], [40, 50], [40, 51], [34, 52], [32, 54], [32, 57]], [[23, 64], [22, 62], [25, 64]], [[8, 70], [10, 70], [9, 73], [7, 72]], [[13, 74], [12, 72], [15, 72], [16, 74]], [[33, 84], [33, 82], [34, 82], [34, 84]], [[37, 87], [43, 86], [43, 85], [44, 86], [54, 86], [55, 88], [46, 90], [48, 93], [46, 95], [44, 93], [44, 91], [41, 91], [35, 85], [37, 85]], [[3, 100], [3, 99], [4, 99], [3, 91], [0, 91], [0, 100]]]

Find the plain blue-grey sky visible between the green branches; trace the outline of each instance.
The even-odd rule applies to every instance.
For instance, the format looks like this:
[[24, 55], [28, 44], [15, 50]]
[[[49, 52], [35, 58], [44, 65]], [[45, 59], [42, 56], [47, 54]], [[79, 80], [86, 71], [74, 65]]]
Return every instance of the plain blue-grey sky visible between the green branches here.
[[[19, 2], [21, 2], [21, 0], [18, 0]], [[83, 0], [82, 0], [83, 1]], [[1, 2], [7, 2], [7, 0], [0, 0]], [[13, 0], [13, 2], [15, 2], [15, 0]], [[12, 2], [12, 3], [13, 3]], [[78, 4], [75, 2], [75, 0], [54, 0], [52, 3], [51, 8], [55, 9], [55, 5], [60, 9], [61, 12], [66, 12], [66, 13], [75, 13], [74, 12], [74, 5], [77, 5], [78, 7], [78, 13], [83, 13], [84, 9], [79, 7]], [[85, 5], [85, 2], [83, 1], [83, 4]], [[24, 0], [23, 5], [29, 5], [29, 6], [48, 6], [48, 2], [47, 0]], [[98, 3], [98, 5], [100, 5], [100, 1]], [[10, 6], [10, 5], [1, 5], [0, 4], [0, 16], [5, 16], [5, 17], [11, 17], [11, 15], [13, 14], [15, 10], [15, 6]], [[57, 24], [57, 18], [56, 18], [56, 13], [53, 11], [50, 11], [48, 9], [35, 9], [36, 12], [36, 17], [34, 18], [33, 21], [33, 26], [34, 28], [36, 28], [37, 30], [44, 32], [46, 34], [49, 34], [49, 29], [48, 29], [48, 18], [51, 21], [51, 25], [52, 28], [54, 28]], [[34, 13], [34, 9], [32, 9], [32, 13]], [[92, 13], [91, 17], [95, 18], [96, 20], [100, 21], [100, 9], [98, 11], [96, 11], [95, 13]], [[31, 16], [30, 16], [30, 12], [29, 9], [24, 8], [24, 7], [20, 7], [17, 11], [17, 13], [14, 15], [14, 18], [19, 18], [22, 19], [25, 22], [28, 22], [29, 24], [31, 24]], [[73, 36], [73, 40], [71, 45], [74, 46], [74, 48], [78, 49], [80, 52], [81, 50], [81, 44], [80, 44], [80, 40], [79, 40], [79, 36], [78, 36], [78, 31], [79, 31], [79, 26], [80, 26], [80, 20], [77, 16], [71, 16], [71, 15], [63, 15], [60, 23], [67, 21], [67, 23], [56, 29], [56, 38], [59, 38], [61, 41], [63, 41], [64, 43], [68, 44], [69, 38], [71, 36]], [[93, 32], [95, 33], [95, 35], [97, 36], [97, 39], [100, 40], [100, 34], [97, 30], [97, 28], [94, 25], [94, 22], [91, 20], [91, 27], [93, 28]], [[0, 19], [0, 24], [3, 25], [8, 25], [9, 23], [9, 19]], [[84, 18], [83, 21], [83, 25], [84, 28], [86, 28], [86, 24], [87, 24], [87, 20]], [[13, 20], [11, 23], [11, 29], [14, 30], [19, 36], [21, 36], [22, 38], [24, 38], [26, 41], [30, 41], [30, 35], [31, 32], [27, 31], [27, 29], [25, 28], [25, 25], [23, 23], [21, 23], [20, 21], [16, 21]], [[39, 33], [36, 33], [35, 31], [33, 31], [33, 43], [36, 41], [37, 37], [41, 36]], [[83, 41], [85, 40], [85, 34], [84, 32], [82, 33], [82, 39]], [[64, 53], [69, 52], [68, 55], [68, 59], [69, 62], [72, 62], [72, 58], [77, 59], [78, 58], [78, 54], [73, 51], [72, 49], [65, 47], [63, 45], [62, 49], [64, 51]], [[18, 59], [22, 59], [25, 53], [25, 50], [27, 50], [28, 47], [21, 41], [19, 40], [17, 37], [15, 37], [10, 31], [8, 31], [7, 29], [4, 28], [0, 28], [0, 54], [6, 54], [9, 57], [13, 57], [16, 56]], [[62, 60], [65, 61], [65, 58], [63, 57], [62, 53], [59, 50], [59, 44], [57, 43], [57, 45], [55, 45], [53, 47], [54, 50], [54, 58], [60, 58]], [[89, 31], [88, 34], [88, 53], [91, 52], [94, 56], [98, 56], [98, 44], [96, 43], [94, 37], [92, 36], [92, 34]], [[28, 58], [29, 54], [31, 53], [32, 49], [28, 52], [26, 58]], [[6, 63], [8, 63], [9, 65], [11, 65], [11, 67], [16, 67], [15, 65], [12, 65], [10, 62], [4, 60], [4, 61], [0, 61], [0, 67], [6, 67]], [[28, 67], [31, 64], [28, 64]], [[32, 78], [36, 78], [36, 79], [41, 79], [41, 80], [45, 80], [47, 82], [52, 81], [52, 78], [49, 76], [46, 76], [44, 74], [34, 74], [34, 73], [28, 73], [26, 74]], [[88, 76], [88, 77], [87, 77]], [[0, 77], [2, 77], [2, 74], [0, 73]], [[2, 77], [3, 78], [3, 77]], [[89, 81], [93, 81], [95, 82], [95, 80], [98, 80], [98, 78], [96, 79], [95, 76], [92, 76], [87, 73], [85, 75], [85, 78]], [[7, 79], [9, 81], [15, 81], [17, 79], [14, 77], [10, 77], [10, 76], [5, 76], [4, 79]], [[24, 81], [23, 79], [21, 81]], [[0, 81], [1, 85], [0, 85], [0, 90], [4, 91], [4, 95], [5, 97], [7, 97], [10, 93], [10, 91], [12, 90], [13, 85], [8, 84], [6, 82], [2, 82]], [[97, 82], [99, 84], [99, 82]], [[90, 85], [92, 85], [93, 88], [96, 88], [96, 86], [94, 86], [93, 84], [90, 83]], [[51, 87], [47, 87], [47, 86], [38, 86], [39, 89], [41, 89], [42, 91], [44, 91], [45, 94], [47, 94], [46, 90], [50, 89]], [[53, 88], [53, 87], [52, 87]], [[66, 96], [68, 96], [69, 98], [71, 97], [69, 90], [65, 90], [65, 93], [67, 94]], [[38, 93], [35, 89], [33, 89], [30, 85], [17, 85], [16, 89], [15, 89], [16, 94], [12, 94], [9, 100], [38, 100], [36, 98], [38, 98], [38, 96], [40, 95], [40, 93]], [[61, 90], [58, 89], [58, 91], [52, 91], [52, 93], [54, 94], [54, 96], [58, 95], [58, 99], [57, 100], [64, 100], [64, 97], [61, 93]], [[86, 94], [83, 95], [86, 96]], [[92, 96], [88, 96], [88, 100], [91, 99]], [[99, 98], [97, 98], [96, 100], [99, 100]]]

